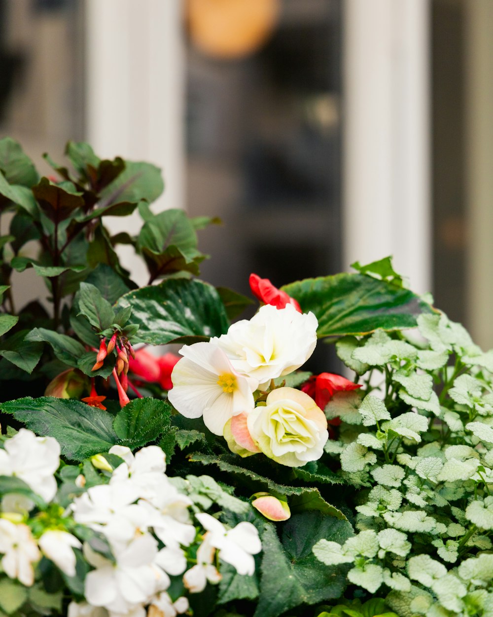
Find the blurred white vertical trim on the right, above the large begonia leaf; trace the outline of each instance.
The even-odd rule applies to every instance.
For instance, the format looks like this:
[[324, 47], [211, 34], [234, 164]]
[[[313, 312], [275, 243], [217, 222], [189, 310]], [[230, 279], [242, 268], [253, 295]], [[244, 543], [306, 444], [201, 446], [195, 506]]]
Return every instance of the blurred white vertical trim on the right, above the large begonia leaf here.
[[428, 0], [344, 0], [343, 267], [431, 287]]

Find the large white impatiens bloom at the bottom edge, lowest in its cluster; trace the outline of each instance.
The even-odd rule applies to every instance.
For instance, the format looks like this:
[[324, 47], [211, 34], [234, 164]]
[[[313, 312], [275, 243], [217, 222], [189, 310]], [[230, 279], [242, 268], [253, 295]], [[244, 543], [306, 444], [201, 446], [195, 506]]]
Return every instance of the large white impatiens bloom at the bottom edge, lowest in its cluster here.
[[96, 568], [86, 575], [86, 600], [123, 615], [148, 604], [170, 584], [168, 575], [154, 563], [157, 552], [157, 540], [150, 534], [137, 536], [116, 557], [116, 563], [84, 544], [84, 556]]

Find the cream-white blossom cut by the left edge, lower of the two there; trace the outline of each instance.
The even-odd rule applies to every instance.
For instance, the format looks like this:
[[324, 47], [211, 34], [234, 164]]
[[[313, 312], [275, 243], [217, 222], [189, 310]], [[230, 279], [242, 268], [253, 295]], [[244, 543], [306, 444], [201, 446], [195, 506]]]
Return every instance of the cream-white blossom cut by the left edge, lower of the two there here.
[[4, 553], [0, 563], [7, 576], [26, 587], [35, 582], [33, 563], [41, 559], [41, 553], [27, 525], [0, 519], [0, 553]]

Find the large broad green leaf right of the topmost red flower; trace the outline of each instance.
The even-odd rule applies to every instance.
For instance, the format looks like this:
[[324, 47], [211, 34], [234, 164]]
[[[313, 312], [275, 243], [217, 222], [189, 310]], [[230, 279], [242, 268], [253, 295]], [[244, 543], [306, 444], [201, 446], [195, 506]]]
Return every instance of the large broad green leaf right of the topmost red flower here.
[[303, 312], [316, 315], [319, 337], [413, 328], [417, 315], [433, 312], [409, 289], [360, 274], [308, 278], [282, 291], [298, 300]]

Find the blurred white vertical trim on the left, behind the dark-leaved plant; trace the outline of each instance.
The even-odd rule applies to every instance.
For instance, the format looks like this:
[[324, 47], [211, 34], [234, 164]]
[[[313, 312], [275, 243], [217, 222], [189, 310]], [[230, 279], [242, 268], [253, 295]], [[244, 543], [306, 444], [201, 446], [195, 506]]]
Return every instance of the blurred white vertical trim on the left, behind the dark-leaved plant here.
[[[182, 7], [181, 0], [85, 2], [86, 138], [100, 156], [163, 169], [166, 189], [155, 212], [185, 205]], [[138, 215], [108, 223], [115, 233], [141, 226]], [[121, 247], [121, 256], [145, 283], [132, 250]]]

